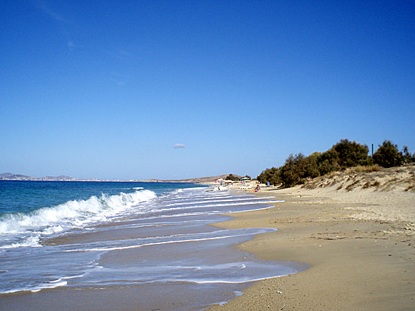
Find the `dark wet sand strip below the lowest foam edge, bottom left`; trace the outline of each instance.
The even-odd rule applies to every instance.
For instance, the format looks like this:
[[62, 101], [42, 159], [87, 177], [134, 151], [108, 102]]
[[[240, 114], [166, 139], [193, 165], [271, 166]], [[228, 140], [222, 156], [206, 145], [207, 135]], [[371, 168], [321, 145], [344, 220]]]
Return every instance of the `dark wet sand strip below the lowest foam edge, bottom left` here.
[[[154, 299], [154, 293], [163, 293], [160, 300]], [[178, 293], [187, 293], [185, 299]], [[154, 286], [133, 286], [131, 288], [106, 288], [71, 290], [55, 288], [37, 293], [8, 294], [3, 296], [0, 310], [13, 311], [53, 311], [53, 310], [200, 310], [203, 288], [188, 283]], [[212, 293], [210, 293], [212, 294]], [[208, 295], [205, 295], [208, 296]], [[219, 301], [228, 301], [234, 294], [217, 288]], [[192, 307], [193, 306], [193, 307]]]

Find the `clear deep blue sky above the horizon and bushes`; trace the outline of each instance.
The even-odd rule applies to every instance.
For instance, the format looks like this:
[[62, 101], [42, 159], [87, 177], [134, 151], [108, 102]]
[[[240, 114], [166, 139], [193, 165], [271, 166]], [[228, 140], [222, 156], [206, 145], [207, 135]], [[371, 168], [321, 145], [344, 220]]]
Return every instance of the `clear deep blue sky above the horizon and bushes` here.
[[2, 1], [0, 172], [257, 176], [415, 151], [414, 1]]

